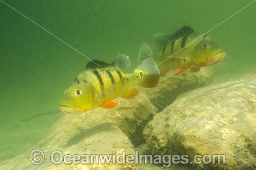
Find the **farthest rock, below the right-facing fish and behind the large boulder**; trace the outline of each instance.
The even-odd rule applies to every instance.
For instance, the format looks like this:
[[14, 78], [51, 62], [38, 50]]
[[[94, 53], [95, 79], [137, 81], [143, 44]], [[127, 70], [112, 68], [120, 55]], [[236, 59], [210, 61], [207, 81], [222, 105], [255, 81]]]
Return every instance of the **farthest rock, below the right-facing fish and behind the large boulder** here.
[[[172, 72], [175, 72], [172, 71]], [[155, 88], [145, 89], [140, 88], [149, 98], [153, 105], [158, 103], [162, 107], [170, 105], [178, 95], [199, 88], [205, 85], [209, 85], [214, 78], [214, 71], [212, 66], [201, 67], [199, 72], [185, 72], [179, 76], [172, 76], [168, 72], [164, 77], [160, 78], [159, 84]], [[162, 108], [155, 105], [159, 111]]]

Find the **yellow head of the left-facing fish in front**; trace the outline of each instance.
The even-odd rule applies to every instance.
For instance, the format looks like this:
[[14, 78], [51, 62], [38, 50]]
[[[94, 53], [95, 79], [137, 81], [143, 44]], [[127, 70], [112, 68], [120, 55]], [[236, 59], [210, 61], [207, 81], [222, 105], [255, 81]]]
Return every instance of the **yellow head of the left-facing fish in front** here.
[[60, 110], [65, 113], [84, 113], [95, 105], [95, 88], [91, 83], [74, 82], [64, 92]]

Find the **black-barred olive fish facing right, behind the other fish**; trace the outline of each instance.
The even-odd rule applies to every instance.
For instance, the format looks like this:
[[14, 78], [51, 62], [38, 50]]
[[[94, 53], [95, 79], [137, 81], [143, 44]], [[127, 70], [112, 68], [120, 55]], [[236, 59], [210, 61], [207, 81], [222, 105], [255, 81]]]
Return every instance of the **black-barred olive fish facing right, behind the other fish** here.
[[199, 72], [201, 67], [219, 63], [226, 52], [213, 42], [208, 35], [195, 33], [190, 26], [182, 26], [175, 33], [158, 33], [153, 36], [153, 49], [142, 43], [139, 63], [153, 57], [161, 76], [170, 70], [179, 69], [171, 74], [181, 75], [186, 71]]

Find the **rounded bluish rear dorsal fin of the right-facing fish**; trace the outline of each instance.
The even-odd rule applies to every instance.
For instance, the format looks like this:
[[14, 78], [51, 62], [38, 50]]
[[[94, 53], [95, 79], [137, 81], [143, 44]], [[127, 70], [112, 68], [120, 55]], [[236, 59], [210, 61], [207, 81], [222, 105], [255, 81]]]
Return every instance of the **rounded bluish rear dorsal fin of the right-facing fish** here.
[[169, 42], [168, 35], [165, 33], [157, 33], [153, 36], [153, 52], [160, 52]]

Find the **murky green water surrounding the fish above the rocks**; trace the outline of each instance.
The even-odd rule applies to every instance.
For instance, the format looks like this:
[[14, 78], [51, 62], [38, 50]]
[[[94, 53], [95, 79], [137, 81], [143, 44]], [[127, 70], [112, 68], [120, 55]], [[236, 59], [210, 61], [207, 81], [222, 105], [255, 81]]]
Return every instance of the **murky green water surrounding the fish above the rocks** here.
[[[131, 70], [155, 33], [185, 25], [205, 33], [251, 1], [5, 0], [90, 59], [129, 55]], [[255, 70], [255, 11], [256, 3], [208, 33], [227, 51], [214, 82]], [[57, 112], [63, 92], [89, 61], [20, 13], [0, 2], [0, 163], [37, 144], [64, 114]]]

